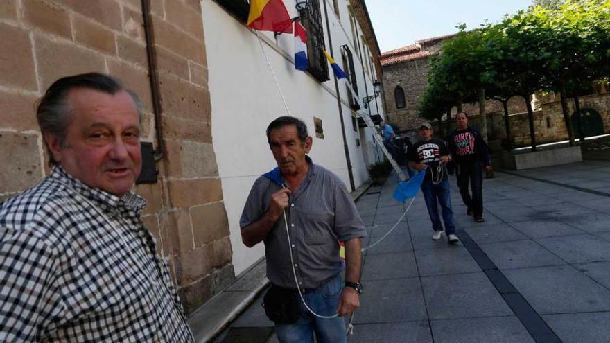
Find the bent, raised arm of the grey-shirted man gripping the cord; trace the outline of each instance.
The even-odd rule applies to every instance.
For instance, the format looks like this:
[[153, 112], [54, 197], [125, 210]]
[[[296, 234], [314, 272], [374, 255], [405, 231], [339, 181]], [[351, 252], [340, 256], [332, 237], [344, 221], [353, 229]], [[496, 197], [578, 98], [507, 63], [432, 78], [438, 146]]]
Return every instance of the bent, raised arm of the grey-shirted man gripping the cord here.
[[[288, 207], [290, 189], [284, 188], [273, 193], [271, 195], [271, 203], [269, 209], [254, 222], [246, 225], [241, 229], [241, 240], [246, 247], [254, 247], [254, 245], [260, 243], [269, 231], [275, 225], [275, 222], [284, 213], [284, 209]], [[250, 199], [248, 199], [250, 201]]]

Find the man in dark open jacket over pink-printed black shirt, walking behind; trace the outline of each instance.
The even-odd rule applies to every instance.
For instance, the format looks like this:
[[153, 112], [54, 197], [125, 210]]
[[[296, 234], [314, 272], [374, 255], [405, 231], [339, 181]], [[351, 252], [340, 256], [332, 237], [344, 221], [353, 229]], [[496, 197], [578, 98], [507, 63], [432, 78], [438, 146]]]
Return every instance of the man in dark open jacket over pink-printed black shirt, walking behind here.
[[[481, 134], [468, 126], [468, 115], [460, 112], [455, 117], [458, 128], [449, 137], [449, 150], [455, 161], [455, 176], [458, 177], [460, 195], [467, 206], [467, 214], [474, 215], [476, 222], [483, 219], [483, 168], [491, 170], [489, 148]], [[468, 184], [472, 195], [468, 190]]]

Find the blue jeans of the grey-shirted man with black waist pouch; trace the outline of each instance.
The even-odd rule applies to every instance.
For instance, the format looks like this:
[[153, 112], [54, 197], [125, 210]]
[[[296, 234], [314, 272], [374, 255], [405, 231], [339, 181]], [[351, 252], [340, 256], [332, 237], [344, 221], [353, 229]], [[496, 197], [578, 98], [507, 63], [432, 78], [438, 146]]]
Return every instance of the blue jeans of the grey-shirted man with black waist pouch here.
[[[303, 294], [307, 306], [318, 315], [331, 316], [337, 313], [339, 299], [343, 290], [341, 276], [337, 275], [315, 290]], [[275, 333], [282, 343], [346, 343], [345, 321], [343, 317], [331, 319], [312, 315], [301, 302], [301, 315], [294, 324], [275, 323]]]

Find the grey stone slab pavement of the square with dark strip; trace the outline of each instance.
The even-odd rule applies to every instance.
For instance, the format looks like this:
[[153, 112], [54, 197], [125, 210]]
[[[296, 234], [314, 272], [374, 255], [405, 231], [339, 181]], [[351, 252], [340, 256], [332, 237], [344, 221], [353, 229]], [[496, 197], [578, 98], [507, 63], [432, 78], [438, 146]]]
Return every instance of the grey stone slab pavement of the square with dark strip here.
[[[496, 172], [484, 181], [484, 223], [466, 215], [450, 177], [458, 245], [430, 239], [419, 193], [364, 254], [348, 342], [610, 342], [609, 175], [610, 161]], [[403, 213], [396, 182], [356, 203], [365, 246]], [[214, 342], [265, 342], [260, 298]]]

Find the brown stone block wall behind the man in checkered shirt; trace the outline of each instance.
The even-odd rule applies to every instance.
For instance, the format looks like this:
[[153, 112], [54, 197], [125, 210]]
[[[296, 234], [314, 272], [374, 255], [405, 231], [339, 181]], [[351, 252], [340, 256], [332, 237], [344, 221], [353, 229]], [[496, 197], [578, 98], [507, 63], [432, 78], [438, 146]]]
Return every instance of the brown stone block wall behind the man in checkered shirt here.
[[[211, 105], [198, 0], [152, 0], [166, 155], [159, 182], [137, 186], [143, 221], [168, 259], [187, 311], [234, 279], [227, 214], [211, 144]], [[53, 81], [98, 71], [141, 97], [143, 141], [155, 141], [139, 0], [0, 1], [0, 199], [49, 169], [35, 101]]]

